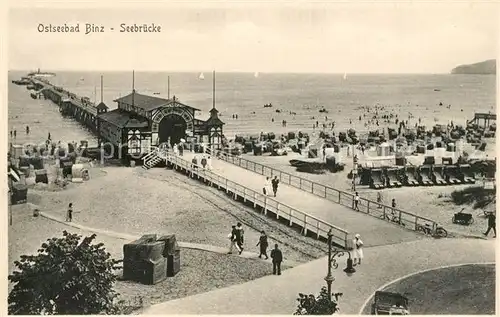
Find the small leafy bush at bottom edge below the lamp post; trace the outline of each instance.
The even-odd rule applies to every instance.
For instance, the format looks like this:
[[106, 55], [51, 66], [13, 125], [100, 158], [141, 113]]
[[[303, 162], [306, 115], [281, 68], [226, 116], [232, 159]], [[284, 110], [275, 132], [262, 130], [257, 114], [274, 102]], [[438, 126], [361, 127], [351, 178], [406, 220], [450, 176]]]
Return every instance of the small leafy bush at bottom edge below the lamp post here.
[[328, 298], [328, 290], [325, 286], [321, 288], [321, 291], [317, 297], [313, 294], [305, 295], [299, 293], [297, 301], [299, 305], [294, 315], [332, 315], [339, 311], [338, 298], [342, 296], [342, 293], [333, 294], [335, 300], [330, 300]]

